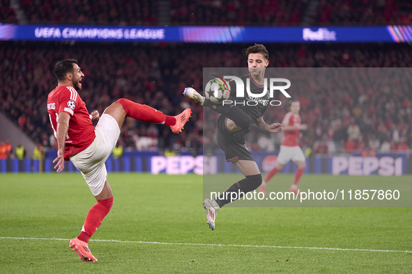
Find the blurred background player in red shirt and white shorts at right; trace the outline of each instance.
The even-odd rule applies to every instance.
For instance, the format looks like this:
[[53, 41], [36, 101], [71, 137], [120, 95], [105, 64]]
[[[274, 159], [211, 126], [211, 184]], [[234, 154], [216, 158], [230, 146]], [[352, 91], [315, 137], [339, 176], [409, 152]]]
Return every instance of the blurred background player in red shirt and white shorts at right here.
[[292, 186], [289, 188], [289, 191], [298, 193], [298, 182], [300, 177], [302, 177], [303, 172], [306, 168], [306, 159], [305, 154], [303, 154], [302, 149], [299, 147], [298, 138], [299, 131], [306, 130], [306, 124], [300, 124], [300, 103], [299, 101], [289, 102], [289, 112], [284, 115], [282, 124], [284, 127], [284, 138], [280, 144], [280, 152], [277, 156], [277, 166], [270, 170], [266, 175], [264, 182], [262, 182], [259, 187], [259, 191], [265, 193], [266, 184], [268, 184], [270, 178], [276, 175], [277, 172], [284, 168], [289, 161], [294, 161], [298, 165], [298, 169], [295, 172], [295, 179], [293, 180]]

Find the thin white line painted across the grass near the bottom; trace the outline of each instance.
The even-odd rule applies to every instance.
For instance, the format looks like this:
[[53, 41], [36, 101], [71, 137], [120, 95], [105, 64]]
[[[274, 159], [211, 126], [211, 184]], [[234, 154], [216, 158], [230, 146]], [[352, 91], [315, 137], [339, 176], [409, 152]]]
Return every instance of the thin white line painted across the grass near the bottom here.
[[[70, 241], [70, 239], [59, 238], [23, 238], [23, 237], [0, 237], [0, 239], [15, 239], [15, 240], [45, 240], [45, 241]], [[222, 246], [234, 248], [290, 248], [290, 249], [312, 249], [312, 250], [342, 250], [342, 251], [369, 251], [369, 252], [406, 252], [412, 253], [412, 250], [375, 250], [375, 249], [358, 249], [358, 248], [309, 248], [305, 246], [276, 246], [276, 245], [223, 245], [220, 243], [162, 243], [157, 241], [119, 241], [119, 240], [90, 240], [100, 242], [114, 243], [148, 243], [155, 245], [206, 245], [206, 246]]]

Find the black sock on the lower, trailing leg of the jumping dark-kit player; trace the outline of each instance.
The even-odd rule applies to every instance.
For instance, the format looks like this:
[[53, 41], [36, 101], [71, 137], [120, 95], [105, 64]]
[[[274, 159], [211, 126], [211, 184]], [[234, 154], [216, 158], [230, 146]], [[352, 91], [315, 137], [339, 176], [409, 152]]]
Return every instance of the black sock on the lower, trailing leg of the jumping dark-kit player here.
[[[224, 204], [229, 204], [229, 202], [233, 202], [232, 199], [235, 198], [235, 195], [232, 196], [231, 193], [236, 193], [236, 199], [234, 200], [237, 200], [239, 198], [242, 198], [245, 193], [254, 191], [261, 185], [261, 183], [262, 175], [260, 174], [246, 176], [245, 179], [235, 184], [232, 184], [227, 191], [225, 191], [222, 195], [219, 196], [219, 198], [215, 200], [219, 204], [219, 207], [223, 207]], [[241, 195], [238, 195], [239, 191]]]

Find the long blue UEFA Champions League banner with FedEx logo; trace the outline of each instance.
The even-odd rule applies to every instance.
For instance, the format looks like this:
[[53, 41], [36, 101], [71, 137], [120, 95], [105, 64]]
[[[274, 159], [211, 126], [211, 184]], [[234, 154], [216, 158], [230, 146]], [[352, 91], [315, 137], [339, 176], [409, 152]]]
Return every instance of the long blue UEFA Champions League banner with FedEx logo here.
[[412, 42], [411, 26], [68, 26], [0, 24], [0, 40], [88, 42]]

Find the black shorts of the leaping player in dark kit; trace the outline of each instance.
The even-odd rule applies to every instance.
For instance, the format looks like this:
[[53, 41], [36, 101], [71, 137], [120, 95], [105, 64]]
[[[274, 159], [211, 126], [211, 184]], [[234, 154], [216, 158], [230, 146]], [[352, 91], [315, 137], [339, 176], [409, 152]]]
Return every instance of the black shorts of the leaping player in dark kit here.
[[[244, 143], [236, 140], [233, 132], [229, 131], [226, 127], [226, 119], [218, 119], [218, 145], [224, 151], [224, 158], [227, 162], [233, 162], [237, 160], [254, 161], [254, 158]], [[243, 136], [242, 136], [243, 137]], [[243, 138], [242, 138], [243, 140]]]

